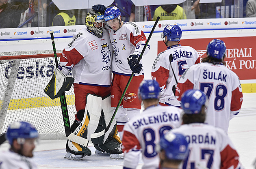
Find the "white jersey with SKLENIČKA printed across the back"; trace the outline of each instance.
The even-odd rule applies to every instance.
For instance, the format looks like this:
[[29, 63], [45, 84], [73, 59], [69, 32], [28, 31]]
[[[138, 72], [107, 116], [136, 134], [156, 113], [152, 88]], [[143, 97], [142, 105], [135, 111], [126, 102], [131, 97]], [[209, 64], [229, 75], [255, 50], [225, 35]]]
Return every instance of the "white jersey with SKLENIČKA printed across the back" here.
[[135, 169], [142, 153], [142, 169], [156, 169], [159, 157], [155, 145], [168, 130], [181, 125], [181, 112], [174, 106], [151, 106], [127, 122], [122, 140], [124, 168]]

